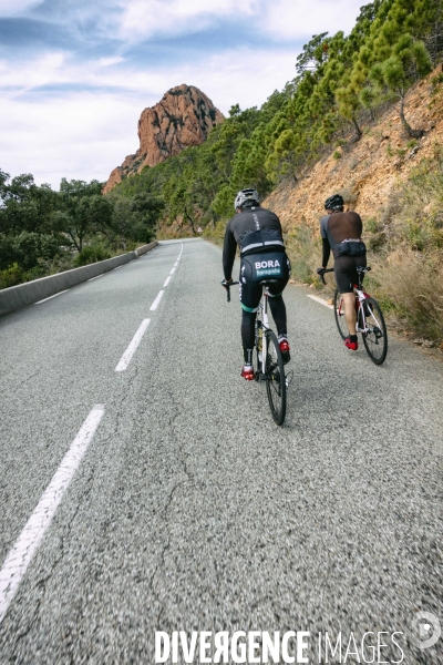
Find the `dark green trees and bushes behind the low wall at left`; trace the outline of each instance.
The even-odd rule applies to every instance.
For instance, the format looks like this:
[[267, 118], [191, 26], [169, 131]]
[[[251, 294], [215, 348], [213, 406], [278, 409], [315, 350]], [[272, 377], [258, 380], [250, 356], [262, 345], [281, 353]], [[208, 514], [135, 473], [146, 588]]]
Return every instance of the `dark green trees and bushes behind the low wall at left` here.
[[163, 209], [157, 197], [102, 196], [103, 183], [0, 172], [0, 288], [103, 260], [148, 243]]

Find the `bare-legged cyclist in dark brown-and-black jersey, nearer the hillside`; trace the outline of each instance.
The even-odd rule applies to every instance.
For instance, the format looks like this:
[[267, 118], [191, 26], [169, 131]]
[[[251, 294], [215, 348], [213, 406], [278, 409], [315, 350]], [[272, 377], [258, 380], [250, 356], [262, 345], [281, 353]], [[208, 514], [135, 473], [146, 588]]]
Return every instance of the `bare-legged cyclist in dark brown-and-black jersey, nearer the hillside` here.
[[349, 329], [349, 337], [346, 338], [344, 346], [351, 351], [357, 351], [359, 344], [353, 285], [358, 283], [357, 267], [367, 265], [367, 248], [361, 242], [363, 225], [360, 215], [354, 212], [344, 213], [343, 206], [344, 201], [340, 194], [333, 194], [324, 202], [328, 214], [320, 219], [323, 243], [321, 266], [323, 269], [327, 267], [332, 249], [333, 272], [337, 287], [343, 297], [344, 318]]

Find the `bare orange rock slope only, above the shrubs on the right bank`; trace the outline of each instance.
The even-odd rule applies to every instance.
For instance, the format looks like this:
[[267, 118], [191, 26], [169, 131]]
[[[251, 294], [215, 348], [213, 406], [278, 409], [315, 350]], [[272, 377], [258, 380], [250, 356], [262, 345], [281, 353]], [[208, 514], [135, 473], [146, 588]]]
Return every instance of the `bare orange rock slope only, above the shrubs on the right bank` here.
[[264, 205], [279, 215], [287, 231], [300, 224], [317, 229], [323, 202], [336, 192], [349, 209], [359, 212], [363, 223], [379, 217], [395, 185], [443, 145], [443, 91], [432, 85], [439, 72], [442, 65], [408, 95], [408, 120], [411, 126], [425, 130], [422, 139], [414, 141], [405, 134], [392, 105], [365, 127], [359, 142], [330, 151], [298, 183], [280, 185]]

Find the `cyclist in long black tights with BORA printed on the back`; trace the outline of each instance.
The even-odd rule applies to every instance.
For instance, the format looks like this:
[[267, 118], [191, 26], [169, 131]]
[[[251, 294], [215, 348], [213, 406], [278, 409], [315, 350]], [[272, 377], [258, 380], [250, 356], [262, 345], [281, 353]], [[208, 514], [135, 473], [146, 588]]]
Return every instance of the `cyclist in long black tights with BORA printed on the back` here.
[[253, 350], [255, 344], [255, 321], [261, 298], [264, 279], [269, 285], [269, 306], [277, 326], [279, 347], [284, 362], [290, 360], [287, 337], [286, 306], [281, 296], [288, 284], [290, 263], [286, 255], [281, 224], [275, 213], [260, 207], [256, 190], [238, 192], [234, 207], [237, 214], [228, 222], [223, 248], [225, 283], [233, 282], [233, 266], [237, 245], [240, 247], [239, 296], [243, 308], [241, 342], [245, 365], [241, 377], [255, 379]]

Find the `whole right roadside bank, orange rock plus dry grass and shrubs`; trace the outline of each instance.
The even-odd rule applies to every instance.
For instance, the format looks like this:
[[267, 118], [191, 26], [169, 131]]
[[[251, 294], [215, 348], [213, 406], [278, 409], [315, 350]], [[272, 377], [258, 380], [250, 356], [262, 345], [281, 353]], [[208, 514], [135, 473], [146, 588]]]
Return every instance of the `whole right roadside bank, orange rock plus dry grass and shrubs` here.
[[[359, 142], [332, 147], [297, 183], [264, 202], [286, 231], [296, 282], [331, 294], [317, 279], [324, 200], [340, 193], [363, 219], [373, 272], [367, 278], [390, 330], [443, 359], [443, 69], [412, 88], [406, 116], [424, 135], [404, 133], [395, 105], [367, 125]], [[330, 263], [331, 265], [331, 263]], [[431, 352], [431, 351], [430, 351]]]

